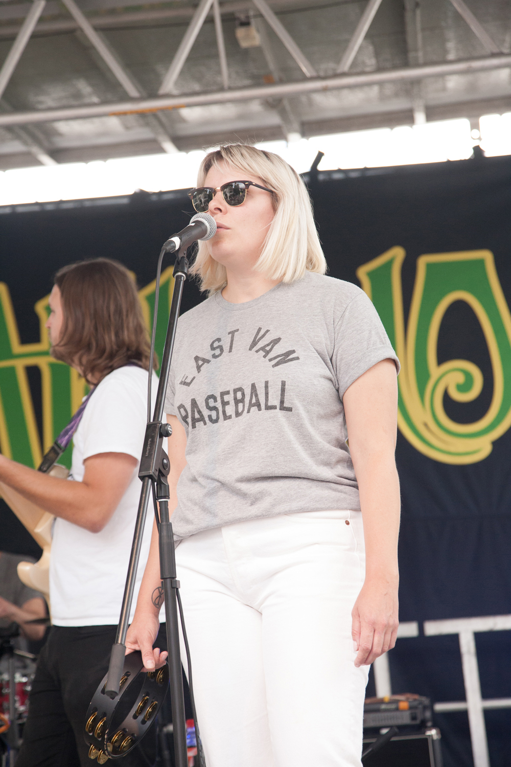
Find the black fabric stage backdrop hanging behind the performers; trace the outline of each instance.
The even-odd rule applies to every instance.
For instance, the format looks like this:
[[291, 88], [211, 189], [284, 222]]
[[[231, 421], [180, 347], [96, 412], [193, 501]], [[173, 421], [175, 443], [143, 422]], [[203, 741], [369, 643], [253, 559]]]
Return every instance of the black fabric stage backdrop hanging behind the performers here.
[[[400, 618], [416, 621], [418, 636], [399, 639], [389, 653], [392, 690], [464, 701], [465, 671], [474, 733], [480, 706], [477, 678], [470, 683], [471, 637], [483, 700], [509, 699], [511, 623], [424, 632], [424, 621], [511, 613], [511, 158], [306, 174], [306, 181], [329, 274], [369, 292], [403, 365]], [[34, 304], [51, 290], [57, 268], [117, 258], [143, 287], [154, 279], [162, 242], [192, 214], [183, 192], [0, 211], [1, 278], [24, 344], [38, 341]], [[186, 285], [183, 311], [200, 300]], [[29, 380], [41, 431], [41, 384]], [[5, 505], [0, 524], [2, 548], [38, 555]], [[369, 693], [374, 684], [372, 675]], [[490, 764], [509, 765], [511, 711], [487, 708], [483, 716]], [[473, 759], [467, 710], [436, 713], [435, 724], [446, 767], [484, 765], [479, 736]]]

